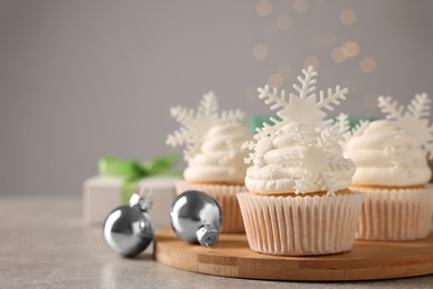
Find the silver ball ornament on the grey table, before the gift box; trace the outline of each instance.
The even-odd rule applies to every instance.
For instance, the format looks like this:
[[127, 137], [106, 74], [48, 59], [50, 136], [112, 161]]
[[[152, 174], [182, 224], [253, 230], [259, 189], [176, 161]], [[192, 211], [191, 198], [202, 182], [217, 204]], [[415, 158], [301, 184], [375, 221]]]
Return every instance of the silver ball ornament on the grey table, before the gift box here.
[[149, 197], [134, 193], [129, 206], [120, 206], [107, 216], [103, 237], [111, 249], [123, 257], [134, 257], [148, 248], [154, 238], [150, 206]]

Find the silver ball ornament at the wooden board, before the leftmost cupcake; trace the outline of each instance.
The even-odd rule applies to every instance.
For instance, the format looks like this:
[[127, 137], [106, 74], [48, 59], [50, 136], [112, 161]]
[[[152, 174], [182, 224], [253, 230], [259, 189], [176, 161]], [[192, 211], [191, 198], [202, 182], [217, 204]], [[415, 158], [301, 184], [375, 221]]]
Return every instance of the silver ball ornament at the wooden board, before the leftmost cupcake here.
[[170, 223], [175, 235], [207, 247], [218, 242], [222, 219], [220, 205], [202, 191], [184, 191], [170, 207]]

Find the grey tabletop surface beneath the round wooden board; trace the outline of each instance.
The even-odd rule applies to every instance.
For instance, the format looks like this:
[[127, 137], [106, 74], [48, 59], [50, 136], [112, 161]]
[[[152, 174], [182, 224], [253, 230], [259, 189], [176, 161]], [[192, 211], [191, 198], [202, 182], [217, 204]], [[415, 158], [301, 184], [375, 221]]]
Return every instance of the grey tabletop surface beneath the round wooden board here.
[[82, 221], [80, 198], [0, 197], [0, 288], [433, 288], [433, 275], [359, 282], [225, 278], [111, 251]]

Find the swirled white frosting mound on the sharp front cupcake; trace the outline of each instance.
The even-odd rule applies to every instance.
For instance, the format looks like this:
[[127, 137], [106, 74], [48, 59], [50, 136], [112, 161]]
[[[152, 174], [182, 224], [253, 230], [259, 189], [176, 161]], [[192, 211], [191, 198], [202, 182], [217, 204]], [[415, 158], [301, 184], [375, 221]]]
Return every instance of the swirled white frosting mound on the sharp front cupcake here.
[[336, 138], [312, 124], [288, 123], [273, 138], [260, 139], [246, 170], [251, 192], [305, 195], [346, 189], [355, 171]]

